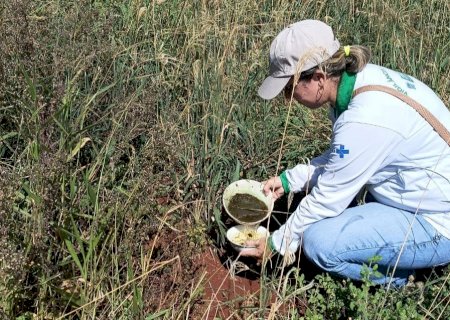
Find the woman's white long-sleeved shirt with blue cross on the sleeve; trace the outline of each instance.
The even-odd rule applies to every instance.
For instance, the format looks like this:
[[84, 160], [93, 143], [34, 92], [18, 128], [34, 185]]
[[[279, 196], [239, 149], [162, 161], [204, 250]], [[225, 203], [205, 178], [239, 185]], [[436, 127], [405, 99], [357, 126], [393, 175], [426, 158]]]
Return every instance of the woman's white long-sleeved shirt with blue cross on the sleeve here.
[[[407, 94], [450, 131], [449, 110], [419, 80], [369, 64], [357, 74], [354, 89], [369, 84]], [[342, 213], [363, 186], [380, 203], [422, 214], [450, 239], [450, 147], [426, 120], [398, 98], [369, 91], [332, 122], [330, 149], [286, 171], [291, 191], [312, 188], [272, 234], [280, 253], [287, 246], [295, 252], [309, 225]]]

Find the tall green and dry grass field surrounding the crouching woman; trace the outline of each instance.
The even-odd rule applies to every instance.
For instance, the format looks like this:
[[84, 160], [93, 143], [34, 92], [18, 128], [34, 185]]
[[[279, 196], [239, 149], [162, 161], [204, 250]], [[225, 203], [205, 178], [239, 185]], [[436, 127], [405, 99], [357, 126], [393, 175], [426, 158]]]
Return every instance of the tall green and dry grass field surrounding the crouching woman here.
[[[199, 317], [195, 257], [225, 246], [224, 187], [328, 144], [325, 110], [256, 95], [273, 37], [306, 18], [449, 105], [448, 1], [2, 1], [0, 319]], [[448, 319], [449, 276], [261, 286], [289, 306], [272, 319]]]

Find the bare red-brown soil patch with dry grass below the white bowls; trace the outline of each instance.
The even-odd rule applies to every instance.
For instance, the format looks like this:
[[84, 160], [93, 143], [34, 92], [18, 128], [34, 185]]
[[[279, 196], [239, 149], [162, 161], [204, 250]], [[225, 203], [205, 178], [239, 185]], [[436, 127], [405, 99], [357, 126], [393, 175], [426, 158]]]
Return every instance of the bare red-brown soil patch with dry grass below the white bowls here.
[[167, 310], [173, 315], [183, 313], [178, 314], [180, 319], [267, 319], [270, 312], [280, 315], [289, 308], [304, 309], [300, 297], [278, 305], [267, 277], [261, 288], [261, 268], [253, 259], [239, 258], [241, 267], [248, 270], [232, 272], [230, 265], [237, 260], [233, 250], [222, 252], [221, 256], [217, 253], [220, 250], [213, 247], [199, 252], [182, 232], [165, 231], [146, 245], [146, 250], [153, 253], [155, 267], [160, 267], [146, 278], [143, 314]]

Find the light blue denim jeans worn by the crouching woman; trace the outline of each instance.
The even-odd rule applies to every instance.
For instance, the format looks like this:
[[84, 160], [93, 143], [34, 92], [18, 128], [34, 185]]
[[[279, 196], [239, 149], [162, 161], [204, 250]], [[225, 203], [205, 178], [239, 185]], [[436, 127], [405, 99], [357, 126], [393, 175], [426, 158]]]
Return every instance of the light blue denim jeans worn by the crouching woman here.
[[[413, 222], [414, 220], [414, 222]], [[392, 270], [403, 247], [395, 274]], [[305, 255], [332, 274], [361, 279], [362, 265], [380, 256], [377, 262], [382, 277], [377, 284], [400, 287], [414, 269], [450, 262], [450, 240], [440, 235], [421, 215], [371, 202], [346, 209], [334, 218], [311, 225], [303, 235]]]

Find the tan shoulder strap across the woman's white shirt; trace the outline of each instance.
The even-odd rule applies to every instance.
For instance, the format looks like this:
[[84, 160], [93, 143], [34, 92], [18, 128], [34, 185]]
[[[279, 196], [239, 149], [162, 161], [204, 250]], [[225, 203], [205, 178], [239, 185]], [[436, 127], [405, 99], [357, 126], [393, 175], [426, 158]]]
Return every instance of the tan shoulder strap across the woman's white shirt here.
[[439, 134], [439, 136], [442, 139], [444, 139], [444, 141], [450, 146], [450, 132], [447, 130], [447, 128], [444, 127], [444, 125], [430, 111], [428, 111], [428, 109], [426, 109], [424, 106], [422, 106], [416, 100], [412, 99], [411, 97], [408, 97], [407, 95], [405, 95], [395, 89], [392, 89], [387, 86], [382, 86], [382, 85], [367, 85], [367, 86], [360, 87], [353, 92], [353, 97], [355, 97], [356, 95], [358, 95], [362, 92], [366, 92], [366, 91], [386, 92], [386, 93], [389, 93], [390, 95], [397, 97], [398, 99], [402, 100], [406, 104], [409, 104], [426, 121], [428, 121], [428, 123]]

